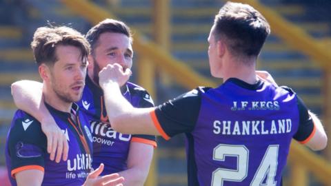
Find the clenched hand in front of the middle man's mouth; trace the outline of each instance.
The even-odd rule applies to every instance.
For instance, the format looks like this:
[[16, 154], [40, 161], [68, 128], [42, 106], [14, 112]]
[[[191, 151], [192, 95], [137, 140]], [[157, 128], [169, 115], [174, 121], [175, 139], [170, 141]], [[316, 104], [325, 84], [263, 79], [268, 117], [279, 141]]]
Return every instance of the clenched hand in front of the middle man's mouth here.
[[117, 63], [114, 63], [113, 65], [108, 64], [99, 72], [99, 85], [103, 87], [106, 83], [116, 82], [121, 87], [129, 80], [131, 74], [132, 72], [129, 68], [123, 72], [121, 65]]

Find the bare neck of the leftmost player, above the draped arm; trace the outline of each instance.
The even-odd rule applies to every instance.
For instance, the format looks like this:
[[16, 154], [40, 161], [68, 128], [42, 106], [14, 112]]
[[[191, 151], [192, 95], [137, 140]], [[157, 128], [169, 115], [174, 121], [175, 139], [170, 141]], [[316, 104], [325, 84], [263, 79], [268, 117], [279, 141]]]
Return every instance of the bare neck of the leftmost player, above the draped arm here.
[[72, 103], [68, 103], [59, 98], [59, 96], [57, 96], [57, 94], [50, 88], [50, 85], [47, 85], [45, 81], [43, 82], [43, 96], [48, 105], [51, 105], [59, 111], [70, 113]]

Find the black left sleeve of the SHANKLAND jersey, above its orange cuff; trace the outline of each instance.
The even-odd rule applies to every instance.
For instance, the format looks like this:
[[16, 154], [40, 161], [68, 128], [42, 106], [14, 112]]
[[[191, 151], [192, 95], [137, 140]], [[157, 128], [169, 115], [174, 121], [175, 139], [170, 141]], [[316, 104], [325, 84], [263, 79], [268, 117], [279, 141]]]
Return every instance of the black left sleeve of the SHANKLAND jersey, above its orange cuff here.
[[171, 137], [194, 130], [203, 92], [205, 88], [198, 87], [157, 107], [155, 115], [165, 134]]

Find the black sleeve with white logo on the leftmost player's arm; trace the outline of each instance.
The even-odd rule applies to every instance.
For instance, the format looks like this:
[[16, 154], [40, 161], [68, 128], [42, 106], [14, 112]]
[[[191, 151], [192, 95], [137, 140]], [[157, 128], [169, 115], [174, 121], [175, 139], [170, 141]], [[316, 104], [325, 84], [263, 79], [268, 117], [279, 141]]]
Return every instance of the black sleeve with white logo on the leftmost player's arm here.
[[17, 118], [13, 122], [8, 134], [10, 170], [26, 165], [44, 167], [47, 141], [40, 123], [34, 118]]

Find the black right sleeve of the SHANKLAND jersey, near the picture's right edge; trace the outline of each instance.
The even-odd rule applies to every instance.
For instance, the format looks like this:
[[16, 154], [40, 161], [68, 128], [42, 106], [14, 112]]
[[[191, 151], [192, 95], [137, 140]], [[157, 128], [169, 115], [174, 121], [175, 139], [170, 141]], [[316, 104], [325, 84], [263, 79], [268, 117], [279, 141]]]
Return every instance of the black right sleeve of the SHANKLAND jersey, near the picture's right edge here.
[[308, 109], [305, 107], [303, 101], [297, 96], [298, 109], [299, 109], [299, 128], [293, 138], [297, 141], [305, 141], [310, 134], [314, 131], [314, 122], [308, 114]]

